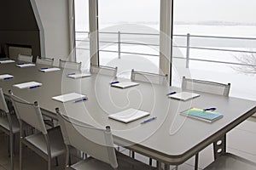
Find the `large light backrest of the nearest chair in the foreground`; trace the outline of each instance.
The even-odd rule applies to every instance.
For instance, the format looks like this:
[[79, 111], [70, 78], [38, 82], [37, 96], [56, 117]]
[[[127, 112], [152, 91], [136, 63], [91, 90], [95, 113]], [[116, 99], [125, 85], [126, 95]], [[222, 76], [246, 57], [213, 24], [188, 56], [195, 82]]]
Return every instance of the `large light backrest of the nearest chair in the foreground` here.
[[61, 114], [58, 108], [56, 108], [56, 113], [65, 144], [82, 150], [97, 160], [108, 163], [113, 168], [118, 167], [110, 127], [106, 129], [91, 127]]

